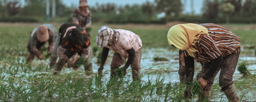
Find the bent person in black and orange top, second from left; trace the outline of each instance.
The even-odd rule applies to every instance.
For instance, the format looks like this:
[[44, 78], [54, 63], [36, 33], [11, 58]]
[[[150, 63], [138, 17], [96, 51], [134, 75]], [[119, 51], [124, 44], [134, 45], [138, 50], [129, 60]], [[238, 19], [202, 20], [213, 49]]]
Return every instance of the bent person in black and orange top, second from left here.
[[60, 26], [59, 35], [57, 35], [55, 40], [55, 46], [52, 51], [50, 67], [54, 65], [57, 61], [57, 56], [60, 58], [57, 64], [54, 66], [54, 74], [61, 71], [65, 63], [67, 63], [68, 68], [72, 67], [77, 69], [73, 62], [69, 60], [75, 53], [78, 53], [81, 57], [84, 57], [87, 66], [84, 70], [87, 75], [92, 72], [92, 63], [89, 60], [88, 54], [90, 52], [91, 37], [86, 34], [83, 28], [79, 28], [77, 24], [65, 23]]

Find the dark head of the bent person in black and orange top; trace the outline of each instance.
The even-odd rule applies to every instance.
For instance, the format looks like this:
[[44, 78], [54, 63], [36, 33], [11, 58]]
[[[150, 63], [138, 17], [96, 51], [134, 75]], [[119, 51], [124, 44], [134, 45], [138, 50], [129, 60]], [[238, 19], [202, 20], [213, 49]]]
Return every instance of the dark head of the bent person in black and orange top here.
[[77, 29], [72, 29], [69, 35], [69, 45], [77, 48], [84, 46], [83, 34]]

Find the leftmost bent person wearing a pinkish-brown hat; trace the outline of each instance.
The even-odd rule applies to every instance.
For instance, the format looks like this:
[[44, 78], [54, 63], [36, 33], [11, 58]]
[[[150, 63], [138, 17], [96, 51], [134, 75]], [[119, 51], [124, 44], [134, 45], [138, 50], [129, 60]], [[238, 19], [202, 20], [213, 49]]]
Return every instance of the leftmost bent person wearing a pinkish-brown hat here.
[[32, 62], [35, 58], [35, 55], [39, 60], [43, 59], [43, 56], [39, 52], [39, 49], [48, 41], [49, 47], [47, 50], [47, 54], [52, 52], [52, 48], [54, 45], [54, 36], [57, 35], [57, 30], [51, 24], [43, 24], [34, 28], [30, 32], [30, 36], [28, 39], [28, 59], [27, 62]]

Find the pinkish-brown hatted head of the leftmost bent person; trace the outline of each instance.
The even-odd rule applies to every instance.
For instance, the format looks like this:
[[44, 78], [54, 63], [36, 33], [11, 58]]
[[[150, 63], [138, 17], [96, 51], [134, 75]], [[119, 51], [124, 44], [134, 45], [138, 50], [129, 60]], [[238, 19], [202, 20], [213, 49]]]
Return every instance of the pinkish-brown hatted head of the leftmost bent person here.
[[51, 33], [51, 31], [50, 31], [50, 29], [48, 29], [47, 26], [40, 25], [40, 26], [38, 26], [38, 30], [36, 32], [36, 38], [40, 42], [46, 42], [49, 40], [50, 33]]

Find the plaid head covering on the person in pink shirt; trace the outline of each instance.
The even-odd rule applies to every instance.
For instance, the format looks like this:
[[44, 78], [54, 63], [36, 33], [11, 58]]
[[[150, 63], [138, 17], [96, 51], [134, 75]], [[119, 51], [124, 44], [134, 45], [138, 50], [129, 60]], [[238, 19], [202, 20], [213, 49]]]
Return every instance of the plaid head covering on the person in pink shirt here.
[[114, 44], [118, 38], [119, 32], [116, 32], [108, 26], [101, 26], [96, 36], [96, 44], [98, 47], [106, 47], [108, 44]]

